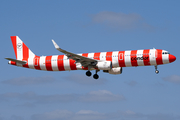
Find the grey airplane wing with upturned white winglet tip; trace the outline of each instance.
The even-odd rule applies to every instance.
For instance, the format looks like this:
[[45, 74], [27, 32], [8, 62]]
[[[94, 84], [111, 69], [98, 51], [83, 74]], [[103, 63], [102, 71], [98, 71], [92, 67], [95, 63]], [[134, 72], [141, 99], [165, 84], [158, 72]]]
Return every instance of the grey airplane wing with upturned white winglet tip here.
[[95, 60], [95, 59], [87, 58], [87, 57], [84, 57], [84, 56], [81, 56], [81, 55], [77, 55], [77, 54], [68, 52], [68, 51], [66, 51], [66, 50], [63, 50], [63, 49], [61, 49], [61, 48], [56, 44], [56, 42], [55, 42], [54, 40], [52, 40], [52, 42], [53, 42], [55, 48], [56, 48], [58, 51], [66, 54], [66, 56], [67, 56], [69, 59], [75, 60], [76, 63], [81, 63], [81, 65], [82, 65], [83, 67], [95, 66], [95, 65], [97, 64], [97, 62], [98, 62], [98, 61]]

